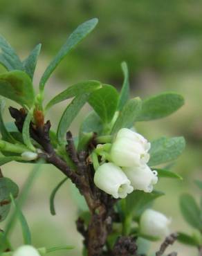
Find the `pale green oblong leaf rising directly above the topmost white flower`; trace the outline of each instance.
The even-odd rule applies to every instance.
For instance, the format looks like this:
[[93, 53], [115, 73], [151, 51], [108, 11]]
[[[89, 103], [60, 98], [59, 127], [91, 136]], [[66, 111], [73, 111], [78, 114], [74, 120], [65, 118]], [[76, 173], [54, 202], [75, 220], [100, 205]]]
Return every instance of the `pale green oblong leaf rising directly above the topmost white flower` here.
[[116, 134], [121, 128], [131, 128], [141, 111], [142, 101], [140, 98], [131, 99], [125, 104], [118, 116], [111, 134]]

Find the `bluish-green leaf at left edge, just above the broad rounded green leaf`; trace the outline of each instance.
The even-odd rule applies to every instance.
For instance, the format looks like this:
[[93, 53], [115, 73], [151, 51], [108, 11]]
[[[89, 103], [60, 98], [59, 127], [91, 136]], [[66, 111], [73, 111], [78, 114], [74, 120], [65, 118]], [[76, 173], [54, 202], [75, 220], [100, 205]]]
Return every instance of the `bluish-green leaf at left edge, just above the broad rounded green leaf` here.
[[15, 53], [15, 50], [8, 44], [6, 39], [0, 35], [0, 48], [1, 48], [1, 55], [0, 55], [0, 63], [5, 66], [8, 71], [18, 69], [23, 71], [24, 66], [19, 60], [19, 57]]

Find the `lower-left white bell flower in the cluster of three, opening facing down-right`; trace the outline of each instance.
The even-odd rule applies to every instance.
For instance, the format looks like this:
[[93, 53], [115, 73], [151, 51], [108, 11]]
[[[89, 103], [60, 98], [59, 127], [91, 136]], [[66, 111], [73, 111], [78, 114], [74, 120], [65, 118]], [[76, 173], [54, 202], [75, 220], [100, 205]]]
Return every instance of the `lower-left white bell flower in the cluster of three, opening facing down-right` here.
[[95, 185], [114, 198], [125, 198], [134, 189], [120, 167], [113, 163], [104, 163], [95, 172]]

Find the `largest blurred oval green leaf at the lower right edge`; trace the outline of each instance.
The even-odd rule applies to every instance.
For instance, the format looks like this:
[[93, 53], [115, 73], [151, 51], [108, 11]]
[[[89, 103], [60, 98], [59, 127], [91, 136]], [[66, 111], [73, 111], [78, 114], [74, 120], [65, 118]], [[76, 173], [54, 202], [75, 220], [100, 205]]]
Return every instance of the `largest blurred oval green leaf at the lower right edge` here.
[[190, 194], [181, 195], [180, 206], [185, 221], [197, 230], [202, 230], [201, 210], [194, 197]]

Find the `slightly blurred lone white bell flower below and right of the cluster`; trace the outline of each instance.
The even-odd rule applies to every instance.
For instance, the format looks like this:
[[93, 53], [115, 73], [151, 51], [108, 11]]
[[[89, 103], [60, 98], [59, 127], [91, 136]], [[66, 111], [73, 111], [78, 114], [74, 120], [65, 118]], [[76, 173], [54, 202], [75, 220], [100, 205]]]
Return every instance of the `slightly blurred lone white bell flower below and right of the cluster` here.
[[169, 235], [170, 223], [171, 219], [161, 212], [147, 209], [140, 217], [140, 232], [149, 237], [163, 238]]

